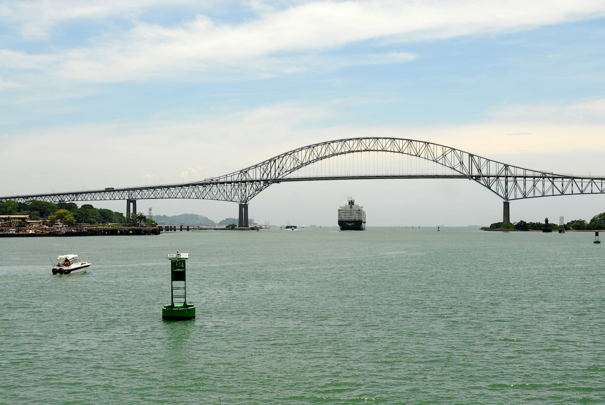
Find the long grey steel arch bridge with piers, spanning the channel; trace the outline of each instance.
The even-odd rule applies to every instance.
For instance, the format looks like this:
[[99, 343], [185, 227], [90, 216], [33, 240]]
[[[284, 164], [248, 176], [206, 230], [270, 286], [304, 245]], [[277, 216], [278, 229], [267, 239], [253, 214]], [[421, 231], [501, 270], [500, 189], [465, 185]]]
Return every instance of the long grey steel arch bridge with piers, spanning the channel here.
[[[330, 158], [347, 154], [391, 153], [416, 157], [450, 170], [449, 174], [321, 174], [294, 173]], [[503, 221], [510, 222], [509, 201], [534, 197], [605, 193], [605, 177], [582, 177], [531, 170], [497, 162], [437, 143], [392, 137], [356, 137], [315, 143], [282, 153], [256, 165], [220, 177], [175, 185], [158, 185], [70, 193], [0, 197], [0, 201], [47, 202], [126, 200], [126, 213], [136, 213], [137, 199], [205, 199], [240, 205], [239, 226], [248, 226], [248, 203], [274, 183], [347, 179], [469, 179], [504, 201]]]

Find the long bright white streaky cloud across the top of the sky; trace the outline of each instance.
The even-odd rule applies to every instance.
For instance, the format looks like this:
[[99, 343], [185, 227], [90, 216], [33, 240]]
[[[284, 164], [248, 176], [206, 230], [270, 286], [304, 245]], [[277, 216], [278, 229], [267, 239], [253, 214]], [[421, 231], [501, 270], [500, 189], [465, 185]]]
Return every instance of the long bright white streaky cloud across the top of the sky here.
[[[183, 1], [181, 3], [187, 3]], [[90, 45], [57, 48], [29, 58], [13, 54], [13, 67], [34, 68], [42, 61], [48, 72], [66, 81], [120, 82], [163, 79], [235, 79], [263, 77], [343, 65], [408, 62], [408, 53], [325, 56], [362, 41], [410, 42], [486, 32], [501, 32], [605, 15], [605, 3], [594, 0], [502, 2], [459, 1], [341, 1], [306, 2], [287, 8], [253, 2], [262, 10], [257, 19], [242, 23], [212, 21], [197, 15], [180, 26], [166, 27], [138, 21], [146, 8], [162, 1], [27, 2], [16, 3], [8, 14], [21, 18], [25, 31], [34, 23], [47, 31], [68, 19], [85, 21], [130, 16], [132, 28], [119, 36], [91, 39]], [[171, 7], [178, 7], [170, 2]], [[281, 4], [278, 4], [281, 5]], [[44, 10], [26, 13], [25, 10]], [[43, 21], [31, 19], [45, 15]], [[25, 16], [28, 16], [27, 18]], [[29, 28], [28, 28], [29, 27]], [[106, 34], [110, 35], [110, 34]], [[10, 51], [5, 51], [5, 53]]]

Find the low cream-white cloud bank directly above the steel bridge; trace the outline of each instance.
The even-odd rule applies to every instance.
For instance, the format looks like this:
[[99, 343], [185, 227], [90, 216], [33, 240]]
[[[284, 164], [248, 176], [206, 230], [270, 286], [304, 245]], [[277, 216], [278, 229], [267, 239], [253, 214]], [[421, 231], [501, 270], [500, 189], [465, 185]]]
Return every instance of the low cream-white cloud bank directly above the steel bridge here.
[[[27, 166], [21, 169], [22, 176], [5, 189], [21, 189], [19, 193], [27, 193], [28, 189], [44, 192], [56, 179], [70, 186], [86, 179], [89, 189], [115, 186], [115, 183], [140, 186], [180, 183], [185, 179], [197, 181], [238, 171], [298, 147], [348, 137], [425, 140], [488, 159], [508, 156], [506, 163], [536, 170], [548, 169], [548, 165], [532, 167], [531, 160], [524, 156], [561, 153], [562, 150], [576, 156], [605, 151], [603, 125], [578, 126], [572, 119], [567, 122], [493, 120], [434, 127], [315, 124], [327, 116], [344, 114], [347, 105], [342, 100], [319, 105], [283, 104], [218, 116], [183, 119], [175, 115], [170, 119], [88, 123], [21, 133], [19, 137], [5, 140], [0, 162], [11, 164], [10, 156], [19, 156], [24, 143], [34, 144], [36, 148], [28, 156]], [[583, 104], [561, 106], [559, 111], [582, 108]], [[563, 113], [563, 116], [571, 114]], [[514, 133], [525, 135], [511, 137]], [[47, 151], [56, 150], [57, 139], [62, 145], [71, 145], [71, 153], [86, 159], [87, 164], [77, 172], [69, 166], [58, 165], [48, 171]], [[36, 156], [38, 153], [40, 156]], [[106, 165], [108, 159], [114, 164]], [[10, 170], [3, 166], [0, 163], [0, 170]], [[99, 167], [103, 170], [98, 170]], [[550, 170], [554, 171], [555, 167], [553, 164]], [[106, 185], [107, 182], [112, 184]], [[60, 184], [55, 187], [59, 188]]]

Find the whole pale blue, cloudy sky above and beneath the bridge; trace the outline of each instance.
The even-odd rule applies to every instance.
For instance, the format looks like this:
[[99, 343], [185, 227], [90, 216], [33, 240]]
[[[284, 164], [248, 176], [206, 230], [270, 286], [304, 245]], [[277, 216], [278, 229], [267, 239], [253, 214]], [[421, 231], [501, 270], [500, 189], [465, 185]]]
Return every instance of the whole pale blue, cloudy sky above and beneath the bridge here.
[[[0, 0], [0, 197], [194, 182], [363, 136], [605, 177], [605, 1]], [[249, 217], [336, 226], [348, 197], [368, 226], [503, 216], [478, 183], [393, 179], [272, 185]], [[137, 201], [150, 208], [238, 213]], [[589, 221], [605, 195], [510, 209]]]

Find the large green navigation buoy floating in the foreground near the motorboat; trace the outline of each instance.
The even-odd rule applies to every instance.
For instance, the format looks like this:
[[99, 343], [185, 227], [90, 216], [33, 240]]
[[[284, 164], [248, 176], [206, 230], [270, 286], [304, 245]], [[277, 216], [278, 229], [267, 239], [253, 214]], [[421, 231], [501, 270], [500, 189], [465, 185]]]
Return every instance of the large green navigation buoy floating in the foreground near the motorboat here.
[[169, 254], [171, 303], [162, 307], [162, 319], [168, 321], [185, 321], [195, 319], [195, 305], [187, 302], [185, 285], [185, 261], [189, 253]]

